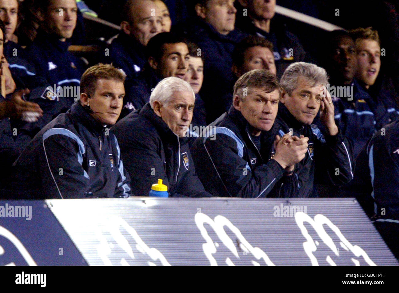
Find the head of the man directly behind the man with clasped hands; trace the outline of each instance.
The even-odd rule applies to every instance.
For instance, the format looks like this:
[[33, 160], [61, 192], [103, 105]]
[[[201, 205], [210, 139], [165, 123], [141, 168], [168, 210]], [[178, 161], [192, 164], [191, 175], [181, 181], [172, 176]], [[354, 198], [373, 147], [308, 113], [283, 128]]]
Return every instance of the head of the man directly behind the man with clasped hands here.
[[266, 69], [276, 75], [273, 44], [266, 39], [249, 35], [233, 51], [233, 72], [238, 77], [253, 69]]

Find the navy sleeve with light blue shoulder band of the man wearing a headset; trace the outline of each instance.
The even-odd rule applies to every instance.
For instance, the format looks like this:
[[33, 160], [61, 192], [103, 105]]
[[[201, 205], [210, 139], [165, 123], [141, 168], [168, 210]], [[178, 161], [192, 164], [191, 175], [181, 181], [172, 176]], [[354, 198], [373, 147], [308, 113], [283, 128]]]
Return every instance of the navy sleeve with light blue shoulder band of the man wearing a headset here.
[[[51, 195], [63, 199], [85, 198], [89, 189], [89, 176], [82, 167], [83, 142], [72, 132], [59, 128], [43, 135], [44, 161], [40, 168], [43, 187]], [[57, 133], [58, 132], [58, 133]], [[49, 174], [49, 176], [46, 176]]]

